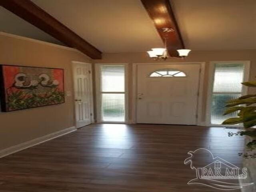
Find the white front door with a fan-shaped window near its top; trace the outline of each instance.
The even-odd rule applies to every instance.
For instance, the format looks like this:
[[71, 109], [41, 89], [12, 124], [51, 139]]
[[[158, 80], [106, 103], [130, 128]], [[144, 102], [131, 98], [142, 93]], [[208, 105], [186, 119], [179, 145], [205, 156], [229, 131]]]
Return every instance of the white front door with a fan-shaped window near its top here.
[[195, 125], [199, 64], [142, 64], [137, 70], [137, 123]]

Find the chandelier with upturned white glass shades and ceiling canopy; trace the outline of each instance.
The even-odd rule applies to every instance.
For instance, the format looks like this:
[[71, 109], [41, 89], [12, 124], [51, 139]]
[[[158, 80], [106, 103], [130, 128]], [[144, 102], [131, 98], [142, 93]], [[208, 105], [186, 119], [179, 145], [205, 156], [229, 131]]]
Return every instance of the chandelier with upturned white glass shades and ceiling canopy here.
[[[172, 28], [162, 28], [162, 32], [170, 33], [174, 32], [174, 29]], [[164, 38], [164, 48], [152, 48], [150, 51], [147, 51], [150, 58], [153, 58], [154, 60], [167, 60], [168, 58], [176, 58], [168, 55], [167, 50], [167, 39], [168, 37]], [[185, 58], [188, 56], [190, 49], [178, 49], [179, 56], [182, 58]]]

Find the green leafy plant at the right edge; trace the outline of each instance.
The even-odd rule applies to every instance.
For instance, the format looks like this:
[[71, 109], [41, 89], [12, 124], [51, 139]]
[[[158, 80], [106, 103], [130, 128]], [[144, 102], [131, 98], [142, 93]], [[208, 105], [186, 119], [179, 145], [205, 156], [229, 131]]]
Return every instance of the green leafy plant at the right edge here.
[[[244, 86], [256, 88], [256, 82], [244, 82]], [[241, 96], [237, 99], [228, 101], [227, 110], [224, 115], [237, 112], [236, 118], [229, 118], [222, 122], [223, 125], [235, 125], [243, 123], [244, 130], [239, 132], [228, 132], [228, 136], [240, 135], [248, 136], [250, 141], [246, 144], [245, 153], [240, 153], [244, 158], [256, 158], [256, 94]], [[244, 106], [241, 106], [244, 105]]]

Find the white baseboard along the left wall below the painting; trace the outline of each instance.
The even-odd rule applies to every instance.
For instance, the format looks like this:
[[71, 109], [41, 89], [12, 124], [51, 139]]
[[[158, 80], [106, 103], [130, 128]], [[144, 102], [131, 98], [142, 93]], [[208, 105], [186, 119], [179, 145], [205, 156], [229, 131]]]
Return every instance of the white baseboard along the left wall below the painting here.
[[12, 147], [9, 147], [6, 149], [2, 149], [2, 150], [0, 150], [0, 158], [2, 158], [4, 156], [8, 156], [13, 153], [16, 153], [18, 151], [24, 150], [26, 148], [38, 145], [38, 144], [46, 142], [48, 140], [52, 140], [52, 139], [60, 137], [62, 135], [74, 132], [76, 130], [77, 130], [76, 127], [72, 126], [70, 128], [66, 128], [66, 129], [63, 129], [63, 130], [60, 130], [57, 132], [53, 132], [53, 133], [50, 133], [48, 135], [45, 135], [45, 136], [42, 136], [42, 137], [39, 137], [36, 139], [32, 139], [27, 142], [24, 142], [24, 143], [21, 143], [21, 144], [18, 144], [18, 145], [15, 145], [15, 146], [12, 146]]

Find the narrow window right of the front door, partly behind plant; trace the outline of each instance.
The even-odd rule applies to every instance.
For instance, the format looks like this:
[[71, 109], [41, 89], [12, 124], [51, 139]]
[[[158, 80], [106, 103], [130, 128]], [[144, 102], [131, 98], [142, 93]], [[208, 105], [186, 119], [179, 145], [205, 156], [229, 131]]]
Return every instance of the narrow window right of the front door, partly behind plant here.
[[236, 112], [223, 116], [226, 102], [242, 95], [244, 64], [215, 64], [212, 89], [211, 123], [222, 124], [228, 118], [236, 117]]

